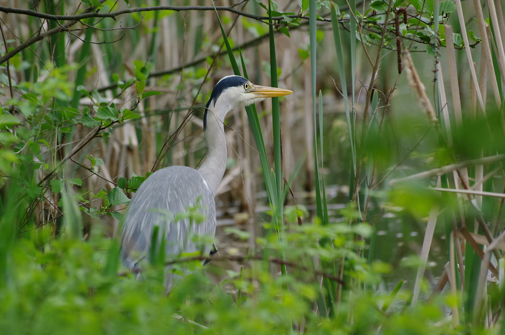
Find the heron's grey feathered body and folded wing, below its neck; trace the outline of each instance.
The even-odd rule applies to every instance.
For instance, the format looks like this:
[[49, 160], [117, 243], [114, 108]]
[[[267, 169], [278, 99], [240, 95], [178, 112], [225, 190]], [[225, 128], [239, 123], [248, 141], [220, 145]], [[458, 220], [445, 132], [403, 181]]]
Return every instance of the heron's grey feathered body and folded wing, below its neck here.
[[[206, 219], [190, 224], [189, 219], [173, 218], [198, 203]], [[187, 166], [169, 166], [150, 175], [138, 188], [125, 214], [121, 232], [121, 258], [133, 268], [150, 249], [155, 226], [165, 232], [166, 254], [209, 253], [212, 243], [196, 245], [188, 235], [212, 236], [216, 233], [216, 204], [211, 189], [200, 173]], [[160, 234], [161, 235], [161, 234]]]

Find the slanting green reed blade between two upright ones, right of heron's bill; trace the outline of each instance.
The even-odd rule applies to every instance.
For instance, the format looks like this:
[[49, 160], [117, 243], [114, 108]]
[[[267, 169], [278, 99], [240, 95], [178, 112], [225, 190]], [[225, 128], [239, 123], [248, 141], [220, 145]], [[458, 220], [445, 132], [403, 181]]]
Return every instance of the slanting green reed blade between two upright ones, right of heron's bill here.
[[[343, 61], [342, 54], [342, 42], [340, 39], [340, 28], [338, 26], [337, 13], [336, 13], [336, 5], [331, 3], [331, 25], [333, 28], [333, 39], [335, 41], [335, 51], [337, 53], [337, 63], [338, 63], [338, 72], [340, 74], [340, 86], [342, 86], [342, 95], [344, 97], [344, 107], [345, 107], [345, 118], [347, 119], [347, 129], [349, 131], [349, 139], [350, 139], [350, 151], [352, 156], [352, 171], [356, 176], [356, 152], [354, 149], [354, 143], [352, 142], [353, 133], [351, 127], [351, 118], [349, 112], [349, 103], [347, 101], [347, 83], [345, 80], [345, 67]], [[352, 21], [352, 20], [351, 20]], [[355, 37], [356, 38], [356, 37]], [[352, 40], [352, 38], [351, 38]]]

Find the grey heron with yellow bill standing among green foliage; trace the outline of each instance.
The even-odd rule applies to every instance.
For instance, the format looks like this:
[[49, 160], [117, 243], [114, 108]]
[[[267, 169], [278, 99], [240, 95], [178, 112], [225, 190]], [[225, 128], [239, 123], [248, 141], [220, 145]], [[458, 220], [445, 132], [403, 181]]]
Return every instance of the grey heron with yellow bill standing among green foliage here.
[[[226, 114], [237, 107], [291, 93], [287, 89], [254, 85], [234, 75], [218, 81], [204, 113], [206, 160], [197, 170], [174, 165], [156, 171], [140, 185], [128, 205], [120, 235], [120, 257], [127, 268], [139, 269], [139, 263], [149, 254], [156, 226], [159, 236], [165, 238], [165, 255], [198, 251], [209, 254], [216, 233], [214, 196], [226, 170]], [[196, 208], [203, 220], [194, 222], [187, 215], [175, 220], [189, 208]], [[176, 276], [167, 272], [165, 286], [170, 290]]]

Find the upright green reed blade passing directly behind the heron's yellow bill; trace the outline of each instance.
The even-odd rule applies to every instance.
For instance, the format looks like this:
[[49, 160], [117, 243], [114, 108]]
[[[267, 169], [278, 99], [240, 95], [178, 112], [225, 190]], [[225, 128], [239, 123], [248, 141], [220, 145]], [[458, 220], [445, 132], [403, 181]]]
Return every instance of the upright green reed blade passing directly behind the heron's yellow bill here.
[[[275, 40], [274, 40], [274, 26], [272, 24], [272, 10], [271, 3], [268, 2], [268, 22], [269, 25], [269, 39], [270, 39], [270, 79], [271, 86], [279, 86], [277, 83], [277, 59], [275, 55]], [[279, 97], [272, 98], [272, 128], [274, 135], [274, 167], [275, 167], [275, 182], [276, 182], [276, 195], [277, 199], [282, 198], [282, 165], [281, 165], [281, 121], [279, 110]], [[277, 216], [282, 220], [282, 204], [277, 203], [276, 212]]]

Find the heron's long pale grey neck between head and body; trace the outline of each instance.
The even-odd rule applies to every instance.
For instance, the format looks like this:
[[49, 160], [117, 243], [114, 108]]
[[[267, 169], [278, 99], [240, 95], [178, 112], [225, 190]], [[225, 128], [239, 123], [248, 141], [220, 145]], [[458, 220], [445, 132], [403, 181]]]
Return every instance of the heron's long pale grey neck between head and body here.
[[205, 162], [201, 164], [198, 172], [204, 177], [214, 195], [216, 195], [226, 170], [227, 152], [223, 120], [229, 109], [227, 106], [216, 104], [214, 108], [209, 108], [207, 111], [205, 129], [207, 155]]

